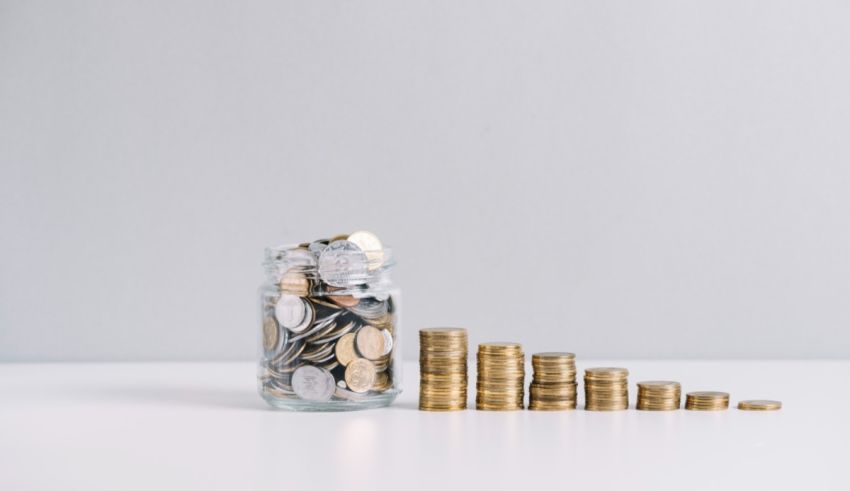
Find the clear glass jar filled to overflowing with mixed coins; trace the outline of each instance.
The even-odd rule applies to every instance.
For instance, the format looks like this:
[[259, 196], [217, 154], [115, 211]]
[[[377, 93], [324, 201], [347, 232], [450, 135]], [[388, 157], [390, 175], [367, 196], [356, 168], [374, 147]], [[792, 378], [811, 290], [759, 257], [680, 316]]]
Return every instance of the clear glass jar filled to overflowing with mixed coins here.
[[269, 247], [258, 386], [271, 406], [348, 411], [401, 392], [392, 251], [369, 232]]

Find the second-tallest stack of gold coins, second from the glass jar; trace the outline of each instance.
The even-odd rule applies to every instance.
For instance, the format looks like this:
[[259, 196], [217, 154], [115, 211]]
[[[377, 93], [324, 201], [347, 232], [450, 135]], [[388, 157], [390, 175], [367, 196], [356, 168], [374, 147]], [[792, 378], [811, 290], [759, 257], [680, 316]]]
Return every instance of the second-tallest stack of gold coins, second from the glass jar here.
[[524, 407], [525, 354], [519, 343], [478, 345], [478, 394], [475, 406], [487, 411]]

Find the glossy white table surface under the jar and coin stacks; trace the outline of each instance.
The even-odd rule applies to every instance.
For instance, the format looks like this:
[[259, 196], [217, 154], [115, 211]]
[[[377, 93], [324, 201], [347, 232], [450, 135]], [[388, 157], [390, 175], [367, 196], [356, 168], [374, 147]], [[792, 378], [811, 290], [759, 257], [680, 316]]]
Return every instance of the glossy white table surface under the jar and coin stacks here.
[[850, 489], [850, 361], [578, 366], [612, 363], [632, 401], [672, 379], [785, 407], [427, 413], [406, 363], [391, 408], [289, 413], [252, 363], [0, 364], [0, 489]]

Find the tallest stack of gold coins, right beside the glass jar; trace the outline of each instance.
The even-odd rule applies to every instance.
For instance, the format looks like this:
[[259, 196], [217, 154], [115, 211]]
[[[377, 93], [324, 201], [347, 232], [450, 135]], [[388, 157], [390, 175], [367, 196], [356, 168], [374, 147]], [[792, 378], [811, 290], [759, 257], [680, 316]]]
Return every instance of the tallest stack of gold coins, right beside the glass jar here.
[[466, 409], [466, 329], [434, 327], [419, 331], [419, 409]]

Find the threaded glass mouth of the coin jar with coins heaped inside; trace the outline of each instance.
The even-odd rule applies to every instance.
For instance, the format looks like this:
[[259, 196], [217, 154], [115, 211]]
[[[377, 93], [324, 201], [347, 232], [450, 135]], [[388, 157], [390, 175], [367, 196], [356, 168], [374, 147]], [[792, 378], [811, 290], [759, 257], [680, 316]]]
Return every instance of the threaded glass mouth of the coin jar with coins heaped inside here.
[[265, 249], [269, 279], [283, 290], [346, 291], [388, 281], [395, 265], [392, 249], [360, 249], [345, 240], [328, 244], [283, 244]]

